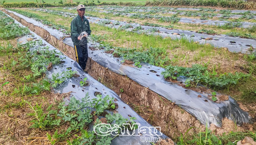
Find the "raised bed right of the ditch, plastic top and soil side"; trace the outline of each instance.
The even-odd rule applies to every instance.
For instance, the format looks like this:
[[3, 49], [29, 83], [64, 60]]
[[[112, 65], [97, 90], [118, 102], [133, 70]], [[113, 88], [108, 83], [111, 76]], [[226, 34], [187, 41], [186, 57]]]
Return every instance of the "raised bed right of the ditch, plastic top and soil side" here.
[[[5, 9], [3, 9], [3, 11], [27, 26], [40, 37], [46, 38], [45, 40], [48, 43], [55, 45], [67, 56], [75, 60], [72, 44], [67, 45], [70, 43], [70, 41], [67, 41], [70, 40], [70, 38], [62, 40], [62, 32], [53, 30], [48, 26], [43, 26], [41, 23], [15, 12], [6, 11]], [[49, 35], [54, 37], [48, 37]], [[65, 41], [69, 43], [65, 44]], [[90, 45], [91, 44], [89, 44], [89, 46]], [[153, 125], [160, 126], [162, 129], [161, 131], [171, 138], [179, 136], [180, 132], [185, 133], [187, 129], [192, 126], [204, 128], [204, 126], [208, 124], [212, 130], [225, 130], [225, 122], [223, 122], [222, 128], [218, 128], [216, 125], [221, 126], [220, 122], [225, 120], [226, 117], [231, 120], [237, 120], [238, 124], [248, 123], [251, 118], [248, 116], [248, 113], [242, 111], [236, 101], [230, 97], [229, 100], [223, 101], [222, 103], [213, 103], [207, 97], [206, 93], [197, 93], [193, 90], [186, 90], [176, 84], [167, 83], [162, 79], [163, 76], [160, 74], [163, 70], [162, 68], [143, 65], [143, 67], [140, 68], [143, 69], [141, 71], [139, 68], [118, 64], [117, 62], [119, 59], [113, 58], [111, 54], [106, 54], [102, 51], [91, 51], [90, 49], [88, 49], [88, 53], [90, 57], [88, 60], [88, 73], [95, 79], [101, 78], [105, 83], [111, 84], [116, 93], [119, 93], [119, 89], [123, 88], [124, 92], [121, 94], [121, 98], [125, 102], [149, 106], [152, 109], [152, 114], [155, 118]], [[107, 63], [105, 62], [106, 60], [108, 60]], [[145, 66], [147, 66], [147, 68]], [[120, 73], [120, 70], [122, 70], [122, 73]], [[150, 70], [157, 70], [158, 72], [154, 73]], [[148, 74], [145, 74], [145, 71], [148, 71]], [[140, 79], [139, 82], [138, 79], [131, 77], [131, 75], [142, 78], [138, 78]], [[151, 77], [146, 78], [147, 76]], [[150, 84], [148, 81], [153, 81], [153, 83]], [[162, 87], [162, 89], [157, 88], [157, 86]], [[152, 87], [155, 87], [155, 90]], [[170, 92], [168, 92], [168, 90], [170, 90]], [[159, 96], [158, 94], [165, 97]], [[202, 95], [202, 97], [198, 98], [197, 96], [199, 94]], [[167, 97], [168, 95], [170, 98]], [[175, 96], [177, 98], [175, 98]], [[184, 99], [182, 99], [182, 97]], [[172, 100], [172, 102], [169, 100]], [[207, 100], [207, 102], [205, 100]], [[204, 102], [204, 104], [201, 104], [200, 102]], [[194, 116], [196, 116], [202, 124]], [[232, 122], [232, 124], [234, 123]], [[230, 127], [228, 129], [230, 129]], [[197, 129], [194, 131], [196, 130]]]

